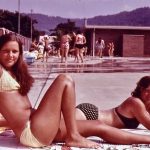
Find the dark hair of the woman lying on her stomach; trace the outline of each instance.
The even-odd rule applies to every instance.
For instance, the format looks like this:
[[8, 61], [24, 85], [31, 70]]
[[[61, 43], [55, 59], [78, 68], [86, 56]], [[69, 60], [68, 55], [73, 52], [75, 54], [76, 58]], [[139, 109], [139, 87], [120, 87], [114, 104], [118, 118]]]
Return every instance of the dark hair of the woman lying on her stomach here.
[[138, 81], [137, 86], [131, 95], [137, 98], [141, 98], [141, 91], [148, 88], [148, 86], [150, 86], [150, 76], [144, 76]]

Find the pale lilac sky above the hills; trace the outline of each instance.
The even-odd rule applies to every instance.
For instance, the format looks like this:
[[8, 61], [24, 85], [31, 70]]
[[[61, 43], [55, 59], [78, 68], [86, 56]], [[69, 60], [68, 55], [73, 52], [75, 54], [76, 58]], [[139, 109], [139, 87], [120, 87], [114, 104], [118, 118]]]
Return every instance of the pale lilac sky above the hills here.
[[[20, 5], [19, 5], [20, 2]], [[19, 7], [20, 6], [20, 7]], [[64, 18], [91, 18], [150, 7], [150, 0], [0, 0], [0, 9]]]

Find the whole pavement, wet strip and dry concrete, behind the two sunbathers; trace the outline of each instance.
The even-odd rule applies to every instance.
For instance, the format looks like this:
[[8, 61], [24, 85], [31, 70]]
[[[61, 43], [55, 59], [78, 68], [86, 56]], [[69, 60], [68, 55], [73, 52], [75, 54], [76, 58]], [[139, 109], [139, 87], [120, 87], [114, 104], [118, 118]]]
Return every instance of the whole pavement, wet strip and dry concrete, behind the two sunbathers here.
[[49, 57], [48, 62], [36, 60], [29, 65], [35, 78], [29, 93], [31, 102], [37, 106], [44, 92], [59, 73], [70, 74], [75, 80], [77, 103], [91, 102], [100, 108], [115, 107], [125, 100], [136, 82], [150, 73], [150, 58], [132, 57], [86, 57], [84, 63], [60, 63], [60, 58]]

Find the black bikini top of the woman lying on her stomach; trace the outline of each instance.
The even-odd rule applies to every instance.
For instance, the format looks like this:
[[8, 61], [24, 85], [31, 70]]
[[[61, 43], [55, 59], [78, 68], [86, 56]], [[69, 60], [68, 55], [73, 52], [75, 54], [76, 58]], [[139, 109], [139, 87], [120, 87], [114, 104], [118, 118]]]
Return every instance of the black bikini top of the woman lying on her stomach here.
[[115, 108], [115, 112], [117, 113], [118, 117], [121, 119], [121, 121], [124, 123], [127, 129], [135, 129], [138, 127], [139, 121], [136, 118], [127, 118], [123, 116], [118, 112], [117, 108]]

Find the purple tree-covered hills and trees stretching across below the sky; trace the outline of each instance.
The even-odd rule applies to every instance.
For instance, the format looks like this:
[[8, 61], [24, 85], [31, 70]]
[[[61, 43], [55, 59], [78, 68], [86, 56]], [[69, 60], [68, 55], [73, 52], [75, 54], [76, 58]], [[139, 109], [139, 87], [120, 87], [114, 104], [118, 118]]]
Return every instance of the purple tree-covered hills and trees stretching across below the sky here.
[[[21, 34], [30, 37], [30, 27], [32, 18], [32, 30], [35, 35], [38, 31], [46, 31], [48, 33], [57, 27], [58, 24], [67, 23], [68, 20], [75, 22], [76, 27], [84, 26], [83, 19], [69, 19], [62, 17], [47, 16], [43, 14], [21, 14], [20, 27]], [[118, 14], [107, 16], [95, 16], [87, 18], [90, 25], [127, 25], [127, 26], [150, 26], [150, 8], [138, 8], [133, 11], [124, 11]], [[0, 27], [5, 27], [11, 31], [18, 30], [18, 12], [12, 13], [0, 9]]]

